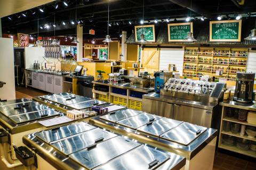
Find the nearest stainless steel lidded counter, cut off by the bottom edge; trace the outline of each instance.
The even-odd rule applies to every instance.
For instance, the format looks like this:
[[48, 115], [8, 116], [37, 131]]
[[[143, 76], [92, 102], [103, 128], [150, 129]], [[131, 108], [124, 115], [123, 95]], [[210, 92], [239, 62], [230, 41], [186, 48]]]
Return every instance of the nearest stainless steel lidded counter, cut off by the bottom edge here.
[[96, 126], [82, 122], [69, 126], [26, 135], [23, 143], [35, 148], [39, 156], [57, 169], [170, 170], [180, 169], [186, 163], [182, 156]]

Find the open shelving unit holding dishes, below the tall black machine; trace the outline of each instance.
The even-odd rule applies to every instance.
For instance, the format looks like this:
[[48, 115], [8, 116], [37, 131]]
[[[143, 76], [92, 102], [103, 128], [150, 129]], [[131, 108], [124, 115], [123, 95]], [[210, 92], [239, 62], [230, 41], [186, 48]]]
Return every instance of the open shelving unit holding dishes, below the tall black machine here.
[[[218, 143], [218, 147], [219, 148], [222, 148], [222, 149], [226, 149], [226, 150], [230, 150], [230, 151], [233, 151], [233, 152], [237, 152], [237, 153], [241, 153], [243, 155], [246, 155], [246, 156], [250, 156], [250, 157], [254, 157], [256, 158], [256, 151], [253, 151], [249, 148], [249, 150], [241, 150], [239, 148], [236, 147], [236, 142], [234, 145], [232, 146], [229, 146], [229, 145], [226, 145], [225, 143], [223, 143], [222, 141], [222, 138], [224, 135], [230, 135], [230, 136], [234, 136], [235, 137], [235, 140], [237, 139], [246, 139], [246, 140], [249, 140], [250, 142], [256, 142], [256, 137], [254, 138], [251, 138], [251, 137], [248, 137], [246, 132], [243, 136], [241, 136], [239, 133], [240, 133], [240, 130], [238, 133], [232, 133], [232, 132], [226, 132], [223, 130], [224, 126], [225, 126], [225, 123], [227, 122], [231, 122], [231, 123], [238, 123], [238, 124], [241, 124], [241, 125], [246, 125], [246, 126], [254, 126], [256, 127], [256, 124], [250, 124], [246, 121], [240, 121], [234, 117], [228, 117], [226, 112], [227, 112], [227, 109], [229, 108], [233, 108], [233, 109], [239, 109], [239, 107], [237, 106], [223, 106], [223, 104], [220, 104], [222, 105], [222, 114], [221, 114], [221, 125], [220, 125], [220, 135], [219, 135], [219, 143]], [[242, 108], [241, 108], [242, 109]], [[243, 107], [243, 109], [246, 109]], [[250, 108], [247, 108], [246, 110], [251, 110]], [[251, 110], [252, 111], [252, 110]], [[256, 114], [256, 113], [255, 113]]]

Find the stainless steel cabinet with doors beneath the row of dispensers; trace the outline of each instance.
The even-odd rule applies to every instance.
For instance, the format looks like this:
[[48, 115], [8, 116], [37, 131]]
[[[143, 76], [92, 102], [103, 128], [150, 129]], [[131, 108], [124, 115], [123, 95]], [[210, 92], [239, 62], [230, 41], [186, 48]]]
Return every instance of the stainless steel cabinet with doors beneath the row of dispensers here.
[[[142, 111], [175, 120], [219, 129], [219, 100], [225, 84], [216, 83], [210, 95], [161, 90], [143, 95]], [[214, 124], [212, 124], [214, 122]]]

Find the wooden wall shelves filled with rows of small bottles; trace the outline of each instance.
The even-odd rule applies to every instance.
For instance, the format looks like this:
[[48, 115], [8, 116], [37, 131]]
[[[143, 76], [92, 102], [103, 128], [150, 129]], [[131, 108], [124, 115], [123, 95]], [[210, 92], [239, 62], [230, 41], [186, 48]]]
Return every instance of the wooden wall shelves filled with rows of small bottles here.
[[236, 80], [237, 71], [246, 71], [248, 48], [185, 47], [183, 76], [215, 76], [222, 70], [226, 80]]

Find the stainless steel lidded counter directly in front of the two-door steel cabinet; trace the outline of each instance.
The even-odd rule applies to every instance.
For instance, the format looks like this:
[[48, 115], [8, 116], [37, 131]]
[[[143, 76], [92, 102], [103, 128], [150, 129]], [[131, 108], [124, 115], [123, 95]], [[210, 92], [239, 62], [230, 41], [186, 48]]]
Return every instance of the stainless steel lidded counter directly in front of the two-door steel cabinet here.
[[[143, 112], [129, 114], [131, 112], [129, 110], [131, 109], [92, 118], [90, 123], [132, 137], [140, 142], [177, 153], [189, 160], [217, 136], [216, 129], [154, 115], [151, 117], [155, 117], [155, 119], [150, 120], [150, 114], [147, 114], [147, 116], [142, 116], [145, 114]], [[126, 115], [125, 112], [128, 114]], [[144, 121], [145, 119], [147, 120]]]

